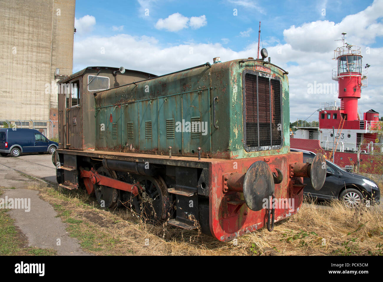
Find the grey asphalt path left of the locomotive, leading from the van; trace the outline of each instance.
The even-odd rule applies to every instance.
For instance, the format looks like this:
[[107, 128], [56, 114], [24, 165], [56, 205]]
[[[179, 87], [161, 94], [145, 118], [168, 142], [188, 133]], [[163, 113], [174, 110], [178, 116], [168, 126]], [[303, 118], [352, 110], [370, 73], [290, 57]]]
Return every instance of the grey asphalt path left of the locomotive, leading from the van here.
[[77, 239], [69, 236], [65, 230], [67, 224], [56, 217], [56, 211], [39, 197], [38, 190], [26, 189], [42, 182], [57, 184], [52, 155], [0, 157], [0, 186], [4, 190], [0, 197], [26, 199], [23, 208], [10, 209], [8, 214], [28, 239], [28, 246], [55, 249], [57, 254], [64, 256], [89, 255], [82, 251]]

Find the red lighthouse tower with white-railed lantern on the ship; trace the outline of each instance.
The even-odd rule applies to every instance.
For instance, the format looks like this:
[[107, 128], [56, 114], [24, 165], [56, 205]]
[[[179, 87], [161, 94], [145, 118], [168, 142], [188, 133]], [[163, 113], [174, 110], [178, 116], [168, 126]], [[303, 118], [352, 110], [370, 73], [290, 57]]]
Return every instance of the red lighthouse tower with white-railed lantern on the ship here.
[[344, 42], [343, 46], [334, 50], [333, 60], [337, 60], [337, 67], [332, 70], [332, 79], [338, 81], [338, 98], [343, 105], [344, 120], [359, 120], [358, 99], [361, 89], [367, 87], [367, 67], [362, 67], [360, 47]]

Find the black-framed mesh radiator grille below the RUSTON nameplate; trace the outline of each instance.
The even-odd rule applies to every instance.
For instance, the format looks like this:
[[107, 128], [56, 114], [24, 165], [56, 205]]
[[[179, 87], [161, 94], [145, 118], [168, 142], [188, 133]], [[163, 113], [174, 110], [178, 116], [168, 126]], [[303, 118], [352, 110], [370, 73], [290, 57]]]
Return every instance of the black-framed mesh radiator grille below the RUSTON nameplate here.
[[244, 87], [245, 148], [276, 149], [282, 145], [280, 81], [246, 73]]

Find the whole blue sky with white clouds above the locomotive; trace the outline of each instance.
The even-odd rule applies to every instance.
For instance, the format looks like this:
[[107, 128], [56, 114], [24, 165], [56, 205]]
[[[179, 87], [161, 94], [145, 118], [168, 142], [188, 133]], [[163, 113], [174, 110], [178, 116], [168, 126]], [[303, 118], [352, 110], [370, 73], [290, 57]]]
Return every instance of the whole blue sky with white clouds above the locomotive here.
[[363, 63], [372, 65], [360, 111], [374, 108], [383, 115], [382, 2], [77, 0], [73, 71], [102, 65], [165, 74], [216, 56], [256, 57], [261, 21], [263, 46], [272, 62], [290, 73], [293, 121], [308, 117], [319, 102], [337, 100], [333, 93], [310, 96], [307, 85], [336, 83], [331, 58], [339, 42], [334, 40], [346, 32], [347, 42], [362, 46]]

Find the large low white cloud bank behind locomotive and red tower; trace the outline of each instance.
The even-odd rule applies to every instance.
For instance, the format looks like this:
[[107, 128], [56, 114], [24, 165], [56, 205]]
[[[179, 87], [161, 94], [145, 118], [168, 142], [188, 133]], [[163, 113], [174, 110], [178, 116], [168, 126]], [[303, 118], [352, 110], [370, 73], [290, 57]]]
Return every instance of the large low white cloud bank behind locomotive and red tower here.
[[[301, 26], [291, 26], [284, 33], [286, 43], [280, 44], [277, 39], [268, 38], [268, 54], [271, 62], [289, 72], [290, 86], [290, 120], [307, 118], [314, 110], [319, 108], [320, 102], [339, 101], [337, 95], [309, 94], [308, 84], [328, 83], [337, 84], [331, 79], [331, 69], [336, 67], [336, 61], [332, 61], [333, 50], [340, 41], [341, 32], [347, 32], [346, 41], [351, 44], [360, 44], [362, 47], [363, 65], [370, 64], [368, 69], [368, 87], [362, 89], [362, 98], [359, 99], [359, 109], [363, 113], [370, 108], [380, 111], [383, 115], [383, 93], [381, 92], [381, 73], [383, 73], [382, 48], [370, 48], [370, 54], [365, 50], [368, 44], [380, 36], [382, 30], [376, 30], [380, 22], [377, 21], [382, 15], [383, 1], [375, 1], [372, 8], [355, 15], [346, 16], [340, 23], [329, 21], [314, 21]], [[373, 20], [375, 18], [375, 20]], [[350, 19], [354, 19], [353, 22]], [[351, 21], [351, 22], [350, 22]], [[344, 30], [336, 26], [350, 27]], [[361, 28], [358, 28], [360, 25]], [[320, 31], [316, 31], [318, 29]], [[323, 32], [323, 29], [327, 29]], [[332, 30], [334, 28], [334, 30]], [[371, 34], [364, 32], [371, 31]], [[315, 33], [314, 35], [312, 33]], [[322, 37], [317, 41], [315, 36]], [[296, 37], [296, 38], [295, 38]], [[227, 38], [222, 38], [225, 44]], [[233, 51], [224, 47], [221, 43], [194, 44], [184, 43], [175, 46], [163, 46], [154, 37], [131, 36], [118, 34], [110, 37], [87, 36], [76, 40], [74, 71], [79, 71], [87, 66], [124, 66], [126, 69], [150, 72], [161, 75], [178, 71], [191, 66], [197, 66], [207, 61], [212, 62], [213, 57], [221, 57], [222, 61], [257, 57], [257, 39], [241, 51]], [[363, 43], [363, 40], [366, 43]], [[264, 42], [265, 43], [265, 42]], [[362, 44], [361, 44], [362, 43]], [[321, 47], [320, 47], [321, 46]], [[101, 54], [101, 48], [105, 48], [105, 54]], [[314, 113], [312, 117], [317, 117]]]

